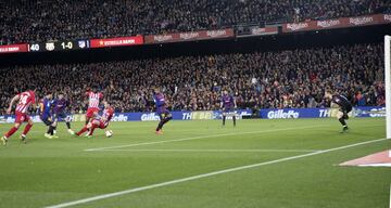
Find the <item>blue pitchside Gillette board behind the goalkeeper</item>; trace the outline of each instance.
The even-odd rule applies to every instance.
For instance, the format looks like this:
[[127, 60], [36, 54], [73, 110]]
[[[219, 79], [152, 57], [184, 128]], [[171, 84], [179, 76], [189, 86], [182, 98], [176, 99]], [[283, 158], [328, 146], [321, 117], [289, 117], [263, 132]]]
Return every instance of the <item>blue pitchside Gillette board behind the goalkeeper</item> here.
[[[349, 113], [351, 117], [384, 117], [384, 107], [363, 106], [353, 107]], [[329, 118], [337, 117], [338, 108], [282, 108], [261, 109], [260, 116], [263, 119], [289, 119], [289, 118]]]

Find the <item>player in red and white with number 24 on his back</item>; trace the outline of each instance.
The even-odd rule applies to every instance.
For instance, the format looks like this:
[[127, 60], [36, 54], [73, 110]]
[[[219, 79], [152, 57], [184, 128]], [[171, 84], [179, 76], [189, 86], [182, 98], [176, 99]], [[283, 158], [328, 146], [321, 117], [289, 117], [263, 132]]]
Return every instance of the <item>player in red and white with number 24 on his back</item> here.
[[8, 139], [17, 131], [17, 129], [21, 127], [22, 122], [24, 121], [27, 121], [28, 123], [23, 130], [23, 133], [21, 135], [21, 141], [26, 143], [26, 135], [28, 131], [31, 129], [34, 123], [31, 118], [28, 116], [28, 108], [30, 107], [31, 104], [35, 104], [35, 90], [36, 90], [35, 87], [30, 87], [29, 89], [30, 90], [28, 91], [16, 94], [14, 98], [12, 98], [10, 102], [10, 106], [7, 109], [7, 114], [11, 114], [12, 106], [14, 105], [15, 102], [17, 102], [15, 108], [16, 118], [15, 118], [14, 127], [12, 127], [10, 131], [7, 132], [5, 135], [1, 138], [3, 145], [7, 145]]

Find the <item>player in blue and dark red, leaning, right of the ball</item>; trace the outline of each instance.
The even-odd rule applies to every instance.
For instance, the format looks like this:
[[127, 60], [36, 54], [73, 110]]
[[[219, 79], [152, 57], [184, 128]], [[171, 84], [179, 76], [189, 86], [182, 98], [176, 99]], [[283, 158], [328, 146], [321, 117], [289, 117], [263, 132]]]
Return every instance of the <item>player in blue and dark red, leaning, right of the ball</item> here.
[[156, 128], [156, 134], [163, 134], [163, 126], [168, 122], [171, 119], [173, 119], [173, 115], [168, 112], [166, 108], [166, 102], [164, 94], [160, 92], [159, 88], [154, 89], [153, 92], [153, 101], [156, 105], [156, 113], [160, 117], [160, 122]]

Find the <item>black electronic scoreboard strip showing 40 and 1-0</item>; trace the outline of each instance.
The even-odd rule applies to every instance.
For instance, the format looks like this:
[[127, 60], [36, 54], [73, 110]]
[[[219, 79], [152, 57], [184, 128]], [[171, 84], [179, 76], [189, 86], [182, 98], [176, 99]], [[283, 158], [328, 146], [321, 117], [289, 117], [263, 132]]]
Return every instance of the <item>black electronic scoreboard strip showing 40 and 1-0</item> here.
[[90, 48], [89, 40], [48, 41], [28, 44], [29, 52], [71, 51], [84, 50], [88, 48]]

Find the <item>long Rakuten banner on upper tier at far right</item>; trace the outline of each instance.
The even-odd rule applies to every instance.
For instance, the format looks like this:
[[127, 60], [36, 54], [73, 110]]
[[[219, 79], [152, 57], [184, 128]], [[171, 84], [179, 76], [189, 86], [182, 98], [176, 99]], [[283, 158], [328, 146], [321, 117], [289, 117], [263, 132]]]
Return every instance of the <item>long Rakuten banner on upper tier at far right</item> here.
[[282, 32], [358, 27], [358, 26], [389, 24], [389, 23], [391, 23], [390, 14], [374, 14], [374, 15], [341, 17], [341, 18], [325, 20], [325, 21], [288, 23], [282, 25]]

